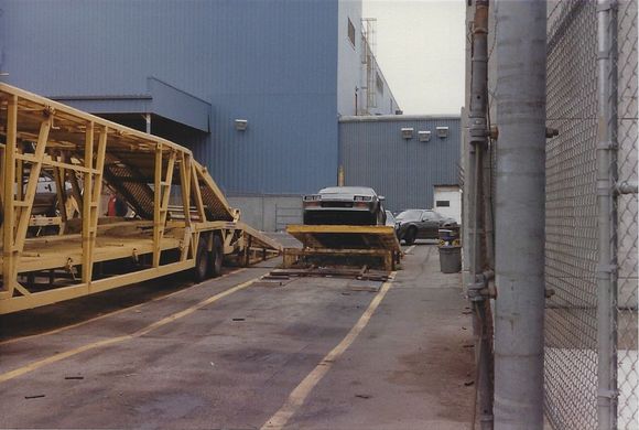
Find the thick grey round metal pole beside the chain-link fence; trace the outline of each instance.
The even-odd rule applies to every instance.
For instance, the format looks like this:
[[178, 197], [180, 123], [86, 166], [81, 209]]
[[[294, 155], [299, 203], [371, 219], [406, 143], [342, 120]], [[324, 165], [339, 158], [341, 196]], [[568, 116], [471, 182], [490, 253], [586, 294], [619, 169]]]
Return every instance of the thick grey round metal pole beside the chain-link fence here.
[[496, 0], [495, 428], [543, 428], [546, 2]]

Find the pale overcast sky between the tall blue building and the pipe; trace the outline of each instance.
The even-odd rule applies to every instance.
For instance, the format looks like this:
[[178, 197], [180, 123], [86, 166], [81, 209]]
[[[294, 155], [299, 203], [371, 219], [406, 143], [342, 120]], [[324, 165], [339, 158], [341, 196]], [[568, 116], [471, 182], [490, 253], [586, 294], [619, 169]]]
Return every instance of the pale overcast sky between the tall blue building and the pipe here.
[[377, 18], [377, 60], [408, 115], [459, 114], [464, 105], [465, 0], [364, 0]]

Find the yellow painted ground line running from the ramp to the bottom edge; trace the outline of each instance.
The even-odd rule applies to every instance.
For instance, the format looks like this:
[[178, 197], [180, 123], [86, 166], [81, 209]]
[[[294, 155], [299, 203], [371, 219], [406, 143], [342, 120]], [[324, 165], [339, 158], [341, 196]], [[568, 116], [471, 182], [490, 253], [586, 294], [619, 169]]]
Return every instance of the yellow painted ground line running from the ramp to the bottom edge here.
[[317, 366], [291, 391], [289, 398], [282, 405], [280, 410], [278, 410], [261, 428], [261, 430], [280, 430], [283, 429], [291, 417], [304, 405], [306, 398], [315, 386], [322, 380], [322, 378], [331, 370], [335, 361], [344, 354], [346, 350], [355, 342], [359, 333], [366, 327], [370, 318], [379, 307], [379, 303], [386, 297], [386, 293], [390, 290], [392, 281], [394, 279], [397, 271], [390, 275], [390, 278], [380, 288], [377, 295], [372, 299], [368, 309], [359, 318], [357, 323], [350, 329], [346, 337], [337, 344], [321, 362]]

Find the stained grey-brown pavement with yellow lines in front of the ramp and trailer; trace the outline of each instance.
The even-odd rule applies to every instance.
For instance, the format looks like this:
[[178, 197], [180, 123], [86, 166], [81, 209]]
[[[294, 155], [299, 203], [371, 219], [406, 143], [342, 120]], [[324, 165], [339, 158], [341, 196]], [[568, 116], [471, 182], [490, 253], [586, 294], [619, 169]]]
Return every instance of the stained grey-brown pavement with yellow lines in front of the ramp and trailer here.
[[467, 428], [459, 275], [440, 273], [434, 246], [407, 252], [391, 282], [368, 290], [325, 278], [266, 286], [269, 260], [57, 332], [42, 322], [74, 302], [1, 315], [23, 333], [43, 325], [0, 343], [0, 427]]

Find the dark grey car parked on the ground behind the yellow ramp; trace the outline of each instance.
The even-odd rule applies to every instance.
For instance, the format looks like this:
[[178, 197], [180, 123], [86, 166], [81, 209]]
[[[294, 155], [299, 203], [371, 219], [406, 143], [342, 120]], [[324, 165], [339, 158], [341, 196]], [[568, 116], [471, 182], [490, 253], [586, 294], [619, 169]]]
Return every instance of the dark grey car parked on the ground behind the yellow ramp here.
[[398, 221], [398, 238], [407, 245], [416, 239], [437, 239], [440, 228], [457, 225], [454, 218], [443, 216], [431, 209], [407, 209], [400, 213]]

